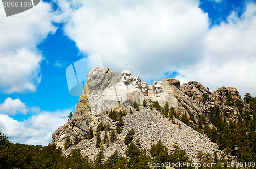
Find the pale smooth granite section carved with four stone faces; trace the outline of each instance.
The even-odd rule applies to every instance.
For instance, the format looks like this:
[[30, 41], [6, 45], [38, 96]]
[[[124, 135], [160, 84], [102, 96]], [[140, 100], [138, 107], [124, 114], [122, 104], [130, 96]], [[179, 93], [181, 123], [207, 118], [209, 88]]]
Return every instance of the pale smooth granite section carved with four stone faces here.
[[[172, 81], [179, 86], [178, 80]], [[153, 85], [148, 85], [141, 82], [139, 76], [132, 75], [129, 70], [116, 74], [113, 71], [108, 73], [105, 68], [94, 67], [88, 73], [84, 92], [87, 94], [92, 115], [99, 115], [121, 104], [129, 104], [128, 102], [142, 105], [144, 100], [151, 100], [158, 101], [162, 106], [166, 102], [177, 105], [178, 98], [175, 97], [172, 86], [167, 83], [168, 81], [155, 81]]]

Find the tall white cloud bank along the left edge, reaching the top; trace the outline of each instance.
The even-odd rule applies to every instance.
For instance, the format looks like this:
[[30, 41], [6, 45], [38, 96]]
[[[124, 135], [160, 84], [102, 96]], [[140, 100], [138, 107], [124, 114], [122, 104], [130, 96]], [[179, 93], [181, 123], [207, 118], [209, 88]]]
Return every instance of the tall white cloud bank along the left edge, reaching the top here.
[[[0, 15], [5, 16], [3, 6]], [[0, 92], [36, 91], [42, 60], [36, 46], [55, 31], [52, 19], [45, 2], [15, 16], [0, 17]]]

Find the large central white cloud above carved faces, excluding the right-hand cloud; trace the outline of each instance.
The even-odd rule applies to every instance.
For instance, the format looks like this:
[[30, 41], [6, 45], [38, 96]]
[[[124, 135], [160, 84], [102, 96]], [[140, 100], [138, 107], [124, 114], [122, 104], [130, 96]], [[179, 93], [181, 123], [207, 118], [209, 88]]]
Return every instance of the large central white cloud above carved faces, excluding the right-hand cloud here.
[[[59, 2], [63, 4], [63, 1]], [[200, 58], [208, 16], [198, 1], [68, 1], [64, 30], [87, 54], [101, 54], [104, 66], [129, 69], [150, 80]], [[70, 10], [67, 10], [70, 11]]]

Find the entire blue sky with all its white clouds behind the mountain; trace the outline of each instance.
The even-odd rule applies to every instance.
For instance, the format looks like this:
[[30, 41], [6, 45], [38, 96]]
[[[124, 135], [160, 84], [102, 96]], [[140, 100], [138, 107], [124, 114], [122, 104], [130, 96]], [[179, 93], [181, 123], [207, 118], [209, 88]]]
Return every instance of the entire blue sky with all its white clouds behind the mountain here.
[[104, 66], [152, 83], [175, 77], [256, 96], [256, 2], [41, 1], [0, 7], [0, 132], [47, 145], [74, 112], [66, 68], [100, 53]]

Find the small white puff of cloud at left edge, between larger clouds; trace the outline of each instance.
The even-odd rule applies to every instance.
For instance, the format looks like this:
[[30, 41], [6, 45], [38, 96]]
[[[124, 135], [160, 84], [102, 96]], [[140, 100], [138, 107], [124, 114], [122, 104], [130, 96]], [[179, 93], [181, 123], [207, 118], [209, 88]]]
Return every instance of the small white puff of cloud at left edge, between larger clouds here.
[[19, 112], [22, 114], [26, 114], [27, 111], [28, 108], [26, 107], [25, 103], [23, 103], [19, 99], [12, 99], [8, 97], [2, 104], [0, 104], [1, 114], [15, 115]]

